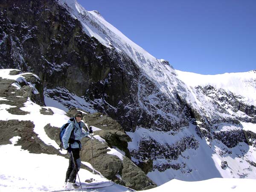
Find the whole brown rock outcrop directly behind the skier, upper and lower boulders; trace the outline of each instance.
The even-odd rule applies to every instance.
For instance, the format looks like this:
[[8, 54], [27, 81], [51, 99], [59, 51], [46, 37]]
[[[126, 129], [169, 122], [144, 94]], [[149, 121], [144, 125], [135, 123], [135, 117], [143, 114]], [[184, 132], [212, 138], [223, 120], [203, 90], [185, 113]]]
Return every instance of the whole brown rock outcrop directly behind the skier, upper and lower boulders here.
[[[77, 110], [81, 111], [71, 108], [67, 114], [70, 117], [74, 116]], [[128, 158], [130, 152], [127, 142], [131, 138], [125, 134], [121, 125], [102, 113], [87, 115], [86, 112], [83, 113], [84, 121], [90, 126], [97, 127], [98, 131], [94, 132], [95, 137], [92, 139], [85, 137], [81, 140], [83, 144], [81, 160], [91, 163], [96, 172], [121, 185], [136, 190], [155, 187], [156, 185], [145, 175], [145, 172]], [[45, 126], [45, 131], [52, 140], [59, 143], [59, 128], [48, 124]], [[111, 152], [113, 150], [116, 152]], [[119, 156], [116, 156], [116, 153], [119, 153]]]

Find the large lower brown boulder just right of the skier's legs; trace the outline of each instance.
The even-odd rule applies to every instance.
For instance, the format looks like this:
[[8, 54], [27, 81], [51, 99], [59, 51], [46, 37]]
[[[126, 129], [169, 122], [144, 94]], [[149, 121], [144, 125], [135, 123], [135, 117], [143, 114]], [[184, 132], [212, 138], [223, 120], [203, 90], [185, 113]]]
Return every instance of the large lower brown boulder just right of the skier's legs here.
[[107, 143], [101, 143], [96, 139], [90, 140], [89, 138], [84, 140], [81, 159], [93, 164], [95, 169], [108, 179], [135, 190], [149, 189], [156, 186], [128, 157], [113, 155], [110, 151], [116, 149], [111, 149]]

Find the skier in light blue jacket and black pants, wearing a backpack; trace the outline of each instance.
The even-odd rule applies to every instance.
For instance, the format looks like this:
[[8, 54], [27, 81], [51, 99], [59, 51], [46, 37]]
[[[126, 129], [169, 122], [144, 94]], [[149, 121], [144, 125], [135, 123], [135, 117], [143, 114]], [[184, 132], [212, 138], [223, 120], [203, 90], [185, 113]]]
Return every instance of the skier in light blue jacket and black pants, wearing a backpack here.
[[81, 150], [80, 140], [93, 133], [91, 128], [89, 129], [89, 132], [82, 130], [82, 128], [85, 127], [84, 122], [81, 122], [82, 117], [81, 112], [76, 113], [73, 121], [71, 121], [72, 119], [68, 121], [70, 124], [67, 126], [62, 137], [63, 147], [70, 155], [65, 179], [65, 188], [67, 189], [79, 188], [79, 185], [76, 184], [76, 175], [81, 167], [81, 159], [79, 155]]

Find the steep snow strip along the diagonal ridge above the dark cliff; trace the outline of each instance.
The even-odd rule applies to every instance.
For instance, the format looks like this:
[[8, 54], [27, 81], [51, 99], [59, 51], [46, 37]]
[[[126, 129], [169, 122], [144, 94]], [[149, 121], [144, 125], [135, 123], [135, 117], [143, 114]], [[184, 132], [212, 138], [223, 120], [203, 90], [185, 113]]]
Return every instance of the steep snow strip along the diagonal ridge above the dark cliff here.
[[108, 23], [99, 12], [86, 11], [76, 0], [60, 0], [59, 3], [70, 12], [70, 15], [81, 22], [88, 36], [95, 37], [106, 47], [128, 55], [144, 71], [144, 75], [152, 79], [166, 95], [172, 96], [173, 87], [182, 83], [176, 78], [176, 72], [169, 64], [165, 64], [163, 59], [150, 55], [128, 39]]

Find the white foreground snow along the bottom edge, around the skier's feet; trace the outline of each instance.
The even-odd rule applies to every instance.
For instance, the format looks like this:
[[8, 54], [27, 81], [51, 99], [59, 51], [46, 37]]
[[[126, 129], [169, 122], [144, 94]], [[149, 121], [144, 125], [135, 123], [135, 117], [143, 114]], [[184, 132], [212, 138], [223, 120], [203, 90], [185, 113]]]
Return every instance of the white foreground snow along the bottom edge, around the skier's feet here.
[[[19, 137], [11, 139], [12, 144], [0, 145], [0, 192], [42, 192], [61, 189], [64, 184], [68, 159], [58, 155], [32, 154], [15, 146]], [[85, 179], [107, 180], [100, 175], [81, 169], [81, 182]], [[214, 178], [196, 182], [171, 180], [144, 192], [191, 191], [191, 192], [244, 192], [256, 188], [253, 179]], [[130, 192], [130, 189], [113, 186], [87, 189], [86, 192]]]

